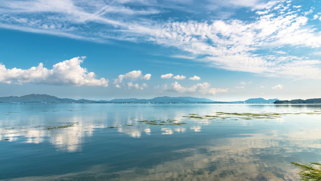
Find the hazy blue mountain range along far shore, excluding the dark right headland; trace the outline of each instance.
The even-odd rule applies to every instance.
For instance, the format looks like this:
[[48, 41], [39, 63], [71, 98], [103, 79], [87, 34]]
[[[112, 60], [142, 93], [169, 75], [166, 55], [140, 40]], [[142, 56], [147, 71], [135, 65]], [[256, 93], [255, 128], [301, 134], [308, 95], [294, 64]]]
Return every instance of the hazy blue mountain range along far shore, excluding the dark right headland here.
[[156, 97], [152, 99], [113, 99], [113, 100], [74, 100], [74, 99], [61, 99], [56, 96], [50, 96], [46, 94], [29, 94], [21, 97], [9, 96], [0, 97], [0, 103], [273, 103], [278, 99], [265, 100], [263, 98], [248, 99], [245, 101], [235, 102], [220, 102], [206, 98], [195, 97]]

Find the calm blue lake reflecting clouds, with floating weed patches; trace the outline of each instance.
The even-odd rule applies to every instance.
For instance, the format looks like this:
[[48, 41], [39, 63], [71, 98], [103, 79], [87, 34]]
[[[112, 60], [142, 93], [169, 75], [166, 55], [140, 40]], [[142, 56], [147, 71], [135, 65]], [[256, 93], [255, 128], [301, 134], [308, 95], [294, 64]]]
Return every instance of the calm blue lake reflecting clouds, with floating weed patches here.
[[0, 180], [299, 180], [321, 105], [0, 104]]

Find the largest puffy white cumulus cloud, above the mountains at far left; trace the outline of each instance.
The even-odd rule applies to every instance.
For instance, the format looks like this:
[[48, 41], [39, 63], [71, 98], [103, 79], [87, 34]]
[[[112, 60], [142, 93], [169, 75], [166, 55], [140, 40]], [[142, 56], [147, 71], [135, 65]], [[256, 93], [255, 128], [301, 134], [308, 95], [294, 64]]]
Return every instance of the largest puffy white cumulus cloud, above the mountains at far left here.
[[88, 72], [80, 64], [85, 57], [75, 57], [70, 60], [59, 62], [52, 66], [52, 69], [43, 67], [39, 63], [37, 67], [30, 69], [6, 69], [0, 64], [0, 82], [1, 83], [40, 83], [55, 85], [75, 85], [75, 86], [102, 86], [108, 87], [108, 80], [105, 78], [96, 79], [94, 72]]

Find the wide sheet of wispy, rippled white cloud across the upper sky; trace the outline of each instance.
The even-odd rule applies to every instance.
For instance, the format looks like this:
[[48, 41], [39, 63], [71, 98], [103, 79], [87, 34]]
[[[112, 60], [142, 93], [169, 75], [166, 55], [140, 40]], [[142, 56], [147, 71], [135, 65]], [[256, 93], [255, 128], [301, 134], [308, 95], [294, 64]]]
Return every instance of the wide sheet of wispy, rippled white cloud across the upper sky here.
[[224, 70], [321, 79], [320, 56], [311, 58], [308, 53], [291, 51], [320, 50], [321, 33], [311, 21], [319, 21], [320, 14], [312, 9], [284, 0], [228, 0], [216, 4], [201, 1], [198, 8], [202, 10], [247, 8], [249, 18], [151, 19], [151, 15], [160, 14], [171, 17], [168, 10], [178, 5], [182, 7], [179, 11], [193, 17], [197, 14], [192, 10], [195, 2], [179, 1], [172, 6], [158, 1], [137, 3], [4, 0], [0, 5], [0, 27], [98, 42], [155, 43], [186, 52], [187, 55], [180, 53], [178, 58], [195, 57], [193, 60]]

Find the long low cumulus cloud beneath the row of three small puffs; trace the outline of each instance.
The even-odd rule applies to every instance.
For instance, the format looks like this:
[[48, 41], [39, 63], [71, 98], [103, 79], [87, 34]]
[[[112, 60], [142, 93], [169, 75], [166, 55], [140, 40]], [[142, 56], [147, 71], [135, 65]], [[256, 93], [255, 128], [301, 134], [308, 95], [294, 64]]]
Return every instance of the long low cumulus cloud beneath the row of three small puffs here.
[[229, 89], [216, 89], [211, 88], [211, 84], [208, 82], [204, 83], [198, 83], [196, 85], [193, 85], [192, 87], [183, 87], [181, 86], [177, 81], [174, 83], [171, 83], [170, 85], [163, 85], [163, 91], [173, 91], [173, 92], [179, 92], [179, 93], [201, 93], [201, 94], [207, 94], [207, 95], [214, 95], [217, 92], [227, 92]]

